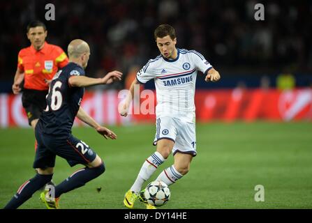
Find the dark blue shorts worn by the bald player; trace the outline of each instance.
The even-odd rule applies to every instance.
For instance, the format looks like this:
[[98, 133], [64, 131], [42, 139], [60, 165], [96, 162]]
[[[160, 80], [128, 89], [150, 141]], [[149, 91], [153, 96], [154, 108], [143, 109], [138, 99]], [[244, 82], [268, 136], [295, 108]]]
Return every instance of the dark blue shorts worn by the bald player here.
[[41, 132], [36, 125], [36, 155], [33, 167], [45, 169], [54, 167], [56, 155], [67, 160], [70, 167], [75, 164], [87, 164], [94, 161], [96, 153], [80, 139], [68, 134], [68, 137], [55, 137]]

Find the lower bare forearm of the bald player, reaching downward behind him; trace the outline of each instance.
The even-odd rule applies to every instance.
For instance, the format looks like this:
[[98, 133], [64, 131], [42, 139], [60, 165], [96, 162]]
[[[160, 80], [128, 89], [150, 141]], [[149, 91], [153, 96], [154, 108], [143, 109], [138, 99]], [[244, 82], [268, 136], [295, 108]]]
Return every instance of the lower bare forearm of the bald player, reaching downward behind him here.
[[99, 134], [102, 134], [103, 137], [105, 137], [105, 139], [107, 139], [107, 137], [110, 139], [117, 139], [117, 135], [114, 132], [98, 124], [91, 116], [89, 116], [89, 114], [84, 112], [84, 109], [82, 109], [82, 107], [80, 107], [77, 112], [77, 118], [79, 118], [84, 123], [87, 123], [91, 127], [95, 128]]

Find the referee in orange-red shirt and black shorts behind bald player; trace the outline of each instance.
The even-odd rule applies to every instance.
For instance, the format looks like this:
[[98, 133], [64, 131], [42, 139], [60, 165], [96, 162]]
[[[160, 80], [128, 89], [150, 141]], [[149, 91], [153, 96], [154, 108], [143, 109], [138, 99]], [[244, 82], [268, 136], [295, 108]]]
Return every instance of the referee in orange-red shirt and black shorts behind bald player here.
[[43, 22], [33, 21], [27, 26], [27, 38], [31, 45], [18, 54], [13, 93], [22, 91], [22, 105], [27, 113], [29, 125], [36, 127], [38, 118], [45, 109], [45, 95], [49, 83], [57, 70], [68, 63], [68, 57], [61, 47], [49, 44], [47, 28]]

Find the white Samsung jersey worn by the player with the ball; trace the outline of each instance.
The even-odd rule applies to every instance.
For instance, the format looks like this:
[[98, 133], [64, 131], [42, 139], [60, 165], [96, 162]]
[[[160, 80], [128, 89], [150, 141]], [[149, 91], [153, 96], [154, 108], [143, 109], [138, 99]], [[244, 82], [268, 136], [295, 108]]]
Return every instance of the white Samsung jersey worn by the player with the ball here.
[[198, 70], [204, 74], [212, 66], [195, 50], [177, 49], [176, 59], [159, 55], [138, 72], [137, 79], [145, 84], [154, 79], [156, 86], [156, 117], [171, 116], [195, 123], [195, 83]]

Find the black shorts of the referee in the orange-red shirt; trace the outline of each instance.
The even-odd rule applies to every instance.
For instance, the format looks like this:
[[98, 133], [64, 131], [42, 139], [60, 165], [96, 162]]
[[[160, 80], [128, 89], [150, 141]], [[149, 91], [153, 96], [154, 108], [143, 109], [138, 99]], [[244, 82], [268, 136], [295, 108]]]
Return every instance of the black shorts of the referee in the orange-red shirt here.
[[31, 125], [31, 121], [38, 119], [47, 107], [47, 102], [45, 101], [47, 93], [48, 91], [22, 90], [22, 105], [26, 111], [29, 125]]

